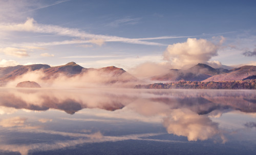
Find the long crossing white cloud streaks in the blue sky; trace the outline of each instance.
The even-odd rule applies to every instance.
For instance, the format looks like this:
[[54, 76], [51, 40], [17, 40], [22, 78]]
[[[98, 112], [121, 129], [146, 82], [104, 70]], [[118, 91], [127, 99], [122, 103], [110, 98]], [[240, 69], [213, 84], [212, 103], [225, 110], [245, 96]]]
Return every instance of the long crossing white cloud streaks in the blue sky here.
[[39, 24], [33, 18], [28, 18], [24, 23], [0, 23], [2, 31], [16, 31], [16, 32], [32, 32], [43, 34], [54, 34], [58, 36], [67, 36], [80, 38], [76, 40], [53, 41], [53, 42], [39, 42], [28, 44], [27, 46], [40, 46], [40, 45], [60, 45], [60, 44], [75, 44], [75, 43], [94, 43], [102, 45], [104, 42], [124, 42], [131, 44], [143, 45], [158, 45], [166, 46], [162, 43], [148, 42], [144, 40], [158, 40], [158, 39], [173, 39], [173, 38], [186, 38], [187, 36], [162, 36], [152, 38], [124, 38], [109, 35], [96, 35], [90, 34], [79, 29], [70, 29], [51, 24]]

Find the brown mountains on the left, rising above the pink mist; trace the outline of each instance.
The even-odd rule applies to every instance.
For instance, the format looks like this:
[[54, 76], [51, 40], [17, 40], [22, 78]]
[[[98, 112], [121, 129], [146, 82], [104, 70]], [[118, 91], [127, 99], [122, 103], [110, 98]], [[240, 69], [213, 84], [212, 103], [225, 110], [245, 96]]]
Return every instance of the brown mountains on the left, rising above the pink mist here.
[[122, 68], [115, 66], [103, 67], [103, 68], [83, 68], [75, 62], [67, 63], [66, 65], [51, 67], [45, 64], [35, 65], [17, 65], [11, 67], [0, 67], [0, 85], [4, 86], [7, 82], [15, 80], [17, 77], [28, 73], [29, 71], [41, 70], [42, 80], [55, 79], [58, 76], [72, 77], [76, 75], [83, 75], [89, 71], [94, 72], [95, 76], [101, 76], [104, 79], [104, 83], [113, 84], [116, 82], [130, 82], [137, 81], [137, 78], [127, 73]]

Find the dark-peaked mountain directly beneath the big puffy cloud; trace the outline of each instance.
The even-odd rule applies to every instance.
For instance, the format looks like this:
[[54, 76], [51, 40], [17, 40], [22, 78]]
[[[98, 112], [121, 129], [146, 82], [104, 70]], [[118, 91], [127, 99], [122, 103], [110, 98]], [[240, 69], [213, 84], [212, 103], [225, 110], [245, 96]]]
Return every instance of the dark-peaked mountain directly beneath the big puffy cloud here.
[[169, 73], [151, 78], [154, 81], [203, 81], [212, 75], [229, 72], [224, 68], [212, 68], [206, 64], [197, 64], [189, 69], [170, 69]]

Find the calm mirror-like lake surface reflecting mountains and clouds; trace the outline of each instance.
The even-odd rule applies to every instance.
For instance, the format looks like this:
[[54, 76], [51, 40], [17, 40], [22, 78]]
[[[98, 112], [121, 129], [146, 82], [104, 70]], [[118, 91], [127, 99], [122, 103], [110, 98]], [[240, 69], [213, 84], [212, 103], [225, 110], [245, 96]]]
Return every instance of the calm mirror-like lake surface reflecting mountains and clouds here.
[[0, 154], [256, 154], [256, 91], [0, 89]]

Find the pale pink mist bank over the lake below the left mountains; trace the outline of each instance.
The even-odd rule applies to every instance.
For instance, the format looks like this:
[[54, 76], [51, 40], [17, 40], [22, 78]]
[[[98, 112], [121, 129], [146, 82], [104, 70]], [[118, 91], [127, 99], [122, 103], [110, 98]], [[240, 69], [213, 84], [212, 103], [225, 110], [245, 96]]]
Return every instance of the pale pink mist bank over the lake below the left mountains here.
[[44, 70], [28, 71], [9, 81], [5, 87], [13, 88], [20, 82], [33, 81], [42, 88], [90, 88], [90, 87], [112, 87], [112, 88], [134, 88], [139, 80], [131, 74], [124, 72], [105, 72], [101, 70], [87, 70], [79, 74], [58, 73], [47, 75]]

